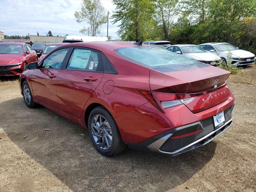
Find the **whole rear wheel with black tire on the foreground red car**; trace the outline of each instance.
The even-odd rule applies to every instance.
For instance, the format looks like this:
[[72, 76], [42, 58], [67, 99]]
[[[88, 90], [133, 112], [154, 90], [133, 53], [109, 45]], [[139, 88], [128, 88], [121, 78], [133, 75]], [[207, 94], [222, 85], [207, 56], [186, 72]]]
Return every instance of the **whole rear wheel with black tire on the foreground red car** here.
[[92, 110], [87, 127], [89, 138], [100, 154], [113, 157], [125, 150], [116, 122], [104, 107]]

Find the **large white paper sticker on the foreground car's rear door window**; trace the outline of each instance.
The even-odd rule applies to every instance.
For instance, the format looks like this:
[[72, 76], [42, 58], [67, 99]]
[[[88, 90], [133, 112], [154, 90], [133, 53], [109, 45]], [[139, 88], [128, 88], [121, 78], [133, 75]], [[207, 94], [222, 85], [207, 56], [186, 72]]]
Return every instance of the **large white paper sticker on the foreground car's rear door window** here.
[[88, 64], [90, 54], [91, 50], [75, 49], [69, 66], [85, 69]]

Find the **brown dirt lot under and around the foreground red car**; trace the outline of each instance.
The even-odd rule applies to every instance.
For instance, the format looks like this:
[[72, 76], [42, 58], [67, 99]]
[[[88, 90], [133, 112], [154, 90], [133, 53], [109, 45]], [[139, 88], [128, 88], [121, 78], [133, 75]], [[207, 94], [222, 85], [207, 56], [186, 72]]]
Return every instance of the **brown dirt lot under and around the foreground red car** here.
[[174, 158], [131, 149], [101, 156], [84, 128], [26, 107], [17, 80], [0, 82], [0, 191], [256, 191], [255, 76], [253, 66], [228, 80], [232, 127]]

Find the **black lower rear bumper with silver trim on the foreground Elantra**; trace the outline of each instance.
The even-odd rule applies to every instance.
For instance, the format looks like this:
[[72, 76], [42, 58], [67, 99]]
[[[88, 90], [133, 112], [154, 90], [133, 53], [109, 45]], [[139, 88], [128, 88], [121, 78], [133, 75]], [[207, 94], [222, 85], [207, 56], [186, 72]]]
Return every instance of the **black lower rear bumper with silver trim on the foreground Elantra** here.
[[[139, 144], [128, 144], [131, 148], [151, 150], [176, 156], [207, 144], [226, 131], [232, 124], [234, 104], [224, 110], [225, 122], [220, 127], [214, 127], [213, 117], [181, 126]], [[191, 134], [196, 133], [196, 134]]]

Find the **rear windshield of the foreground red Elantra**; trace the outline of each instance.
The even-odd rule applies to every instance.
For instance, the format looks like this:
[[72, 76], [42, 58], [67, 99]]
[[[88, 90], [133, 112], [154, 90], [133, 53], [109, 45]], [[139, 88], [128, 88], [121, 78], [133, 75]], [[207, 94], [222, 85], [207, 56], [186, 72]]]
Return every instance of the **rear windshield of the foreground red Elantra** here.
[[114, 52], [128, 61], [160, 72], [207, 67], [206, 64], [156, 46], [124, 47]]

